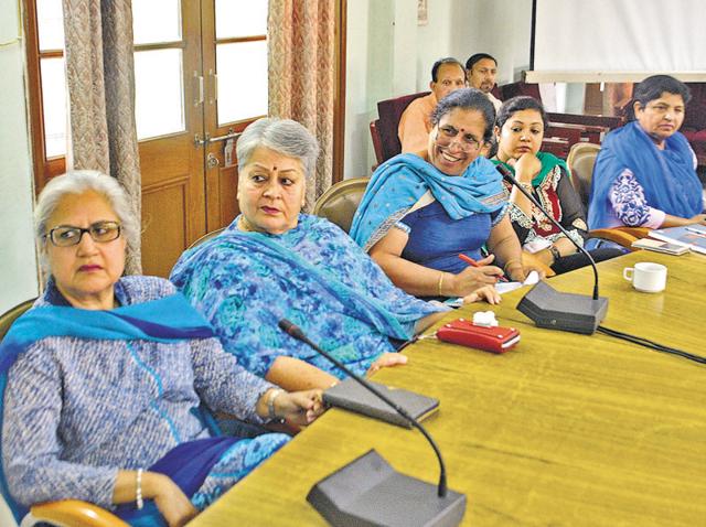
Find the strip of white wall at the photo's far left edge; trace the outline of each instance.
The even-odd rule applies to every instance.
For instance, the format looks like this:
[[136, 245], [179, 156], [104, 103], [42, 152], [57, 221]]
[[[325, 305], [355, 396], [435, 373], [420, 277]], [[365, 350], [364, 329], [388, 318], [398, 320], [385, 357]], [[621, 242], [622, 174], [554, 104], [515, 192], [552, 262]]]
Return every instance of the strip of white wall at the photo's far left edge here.
[[[38, 294], [18, 2], [0, 0], [0, 312]], [[4, 525], [4, 524], [2, 524]]]

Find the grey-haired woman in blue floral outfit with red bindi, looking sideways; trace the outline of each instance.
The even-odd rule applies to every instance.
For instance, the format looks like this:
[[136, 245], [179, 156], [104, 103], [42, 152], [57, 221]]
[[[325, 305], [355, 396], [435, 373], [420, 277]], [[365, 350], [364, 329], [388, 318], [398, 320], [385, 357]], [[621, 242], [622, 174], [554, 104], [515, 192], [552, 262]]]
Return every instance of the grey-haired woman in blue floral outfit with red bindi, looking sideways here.
[[170, 279], [250, 372], [287, 389], [343, 377], [277, 327], [289, 319], [359, 374], [404, 363], [392, 354], [445, 308], [404, 293], [332, 223], [300, 214], [318, 155], [301, 125], [260, 119], [238, 139], [242, 214], [184, 252]]

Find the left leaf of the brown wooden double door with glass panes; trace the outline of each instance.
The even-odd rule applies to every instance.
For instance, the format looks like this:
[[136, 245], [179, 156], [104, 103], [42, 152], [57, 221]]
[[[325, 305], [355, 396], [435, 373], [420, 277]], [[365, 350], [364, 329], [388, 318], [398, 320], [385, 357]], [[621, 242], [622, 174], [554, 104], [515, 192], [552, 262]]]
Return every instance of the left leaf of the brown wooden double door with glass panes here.
[[[197, 0], [133, 0], [136, 116], [142, 172], [142, 268], [169, 276], [205, 234]], [[154, 23], [158, 20], [159, 23]]]

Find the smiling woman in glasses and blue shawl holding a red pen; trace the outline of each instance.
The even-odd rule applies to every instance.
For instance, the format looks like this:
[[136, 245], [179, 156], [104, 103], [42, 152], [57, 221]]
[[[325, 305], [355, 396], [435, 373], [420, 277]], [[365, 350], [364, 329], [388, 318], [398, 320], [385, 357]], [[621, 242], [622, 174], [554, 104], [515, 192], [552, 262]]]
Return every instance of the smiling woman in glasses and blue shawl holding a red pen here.
[[427, 150], [391, 159], [367, 185], [351, 236], [408, 293], [496, 303], [503, 271], [525, 279], [501, 175], [480, 155], [494, 120], [482, 92], [453, 92], [432, 115]]

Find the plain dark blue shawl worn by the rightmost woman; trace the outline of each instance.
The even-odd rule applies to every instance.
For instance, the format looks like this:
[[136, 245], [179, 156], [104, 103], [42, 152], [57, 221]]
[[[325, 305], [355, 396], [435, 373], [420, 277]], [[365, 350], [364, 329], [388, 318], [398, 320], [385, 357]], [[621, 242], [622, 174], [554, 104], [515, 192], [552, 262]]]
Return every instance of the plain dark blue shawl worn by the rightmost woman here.
[[686, 138], [676, 132], [656, 148], [638, 121], [610, 132], [601, 144], [588, 207], [591, 229], [608, 226], [612, 216], [610, 187], [630, 169], [644, 190], [650, 206], [680, 217], [702, 212], [702, 185], [694, 171], [694, 153]]

